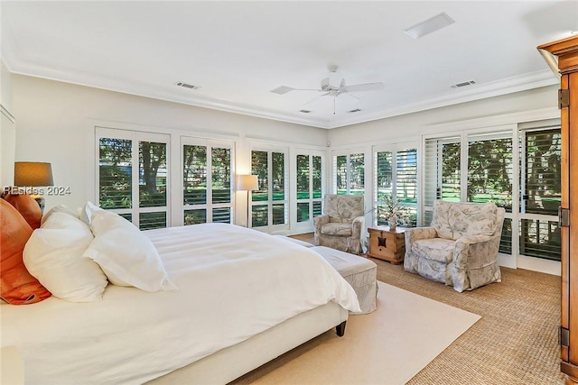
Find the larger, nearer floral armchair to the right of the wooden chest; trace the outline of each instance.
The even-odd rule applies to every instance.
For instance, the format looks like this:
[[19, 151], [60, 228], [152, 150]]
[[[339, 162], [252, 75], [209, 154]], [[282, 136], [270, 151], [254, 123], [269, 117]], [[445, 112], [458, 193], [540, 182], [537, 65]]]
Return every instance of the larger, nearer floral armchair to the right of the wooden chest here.
[[501, 281], [505, 210], [493, 203], [436, 200], [430, 227], [406, 229], [404, 268], [461, 292]]

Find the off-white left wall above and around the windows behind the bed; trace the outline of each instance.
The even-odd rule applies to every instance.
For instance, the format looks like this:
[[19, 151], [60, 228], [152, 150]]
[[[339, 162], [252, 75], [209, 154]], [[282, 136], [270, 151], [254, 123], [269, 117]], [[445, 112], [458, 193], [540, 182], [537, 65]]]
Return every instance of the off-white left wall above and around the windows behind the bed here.
[[[45, 196], [47, 207], [76, 207], [94, 198], [94, 180], [87, 179], [94, 174], [95, 124], [230, 137], [237, 143], [240, 173], [250, 170], [248, 142], [326, 148], [324, 129], [22, 75], [13, 74], [13, 84], [14, 112], [19, 116], [16, 160], [49, 161], [54, 184], [70, 187], [69, 197]], [[246, 213], [245, 200], [238, 200], [242, 206], [236, 211]]]

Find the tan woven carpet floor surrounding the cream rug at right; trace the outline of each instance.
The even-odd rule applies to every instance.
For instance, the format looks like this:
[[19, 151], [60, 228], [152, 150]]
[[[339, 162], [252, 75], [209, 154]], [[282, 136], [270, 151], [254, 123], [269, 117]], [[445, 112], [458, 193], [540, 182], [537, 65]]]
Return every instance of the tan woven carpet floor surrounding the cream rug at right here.
[[[297, 237], [312, 242], [312, 236]], [[559, 369], [560, 277], [501, 268], [502, 282], [458, 293], [371, 259], [378, 280], [481, 316], [409, 385], [564, 384]], [[378, 365], [378, 360], [369, 360]]]

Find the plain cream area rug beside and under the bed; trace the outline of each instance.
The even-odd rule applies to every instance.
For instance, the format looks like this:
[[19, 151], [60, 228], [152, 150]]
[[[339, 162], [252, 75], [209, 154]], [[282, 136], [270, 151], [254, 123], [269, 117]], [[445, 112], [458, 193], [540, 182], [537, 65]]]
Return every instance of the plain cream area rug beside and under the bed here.
[[480, 316], [379, 282], [378, 310], [234, 381], [252, 384], [405, 384]]

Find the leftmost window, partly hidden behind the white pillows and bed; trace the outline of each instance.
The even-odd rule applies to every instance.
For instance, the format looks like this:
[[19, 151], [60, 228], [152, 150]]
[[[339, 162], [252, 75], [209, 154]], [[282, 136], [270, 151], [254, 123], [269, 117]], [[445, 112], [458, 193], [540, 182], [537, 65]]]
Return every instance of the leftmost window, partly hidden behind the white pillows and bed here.
[[140, 229], [166, 227], [168, 135], [98, 129], [98, 205]]

